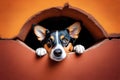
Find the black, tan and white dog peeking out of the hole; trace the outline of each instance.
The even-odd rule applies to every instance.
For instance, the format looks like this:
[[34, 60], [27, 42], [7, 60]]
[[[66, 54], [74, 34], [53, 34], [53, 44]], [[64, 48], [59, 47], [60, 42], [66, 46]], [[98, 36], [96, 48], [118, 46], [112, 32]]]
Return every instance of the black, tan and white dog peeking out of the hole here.
[[69, 52], [74, 51], [77, 54], [83, 53], [85, 47], [76, 45], [73, 47], [75, 40], [79, 37], [81, 25], [79, 22], [73, 23], [64, 30], [50, 31], [40, 25], [34, 26], [34, 34], [41, 42], [43, 47], [36, 49], [38, 56], [49, 54], [50, 59], [54, 61], [62, 61]]

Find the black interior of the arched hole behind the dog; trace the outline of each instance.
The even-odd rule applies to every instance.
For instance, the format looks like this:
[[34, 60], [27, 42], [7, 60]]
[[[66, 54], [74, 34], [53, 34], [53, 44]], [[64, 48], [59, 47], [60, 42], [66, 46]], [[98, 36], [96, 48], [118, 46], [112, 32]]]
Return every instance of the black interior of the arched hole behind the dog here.
[[[61, 29], [65, 29], [69, 27], [74, 22], [76, 22], [76, 20], [62, 16], [62, 17], [48, 18], [48, 19], [45, 19], [39, 22], [38, 24], [49, 30], [61, 30]], [[81, 44], [85, 46], [85, 48], [87, 49], [93, 44], [95, 44], [96, 42], [93, 36], [90, 34], [90, 32], [82, 24], [82, 21], [79, 21], [79, 22], [81, 23], [82, 30], [79, 34], [79, 38], [75, 42], [75, 45]], [[42, 47], [42, 45], [37, 40], [37, 37], [35, 36], [33, 32], [33, 27], [31, 27], [31, 30], [29, 31], [24, 43], [27, 44], [32, 49], [37, 49], [39, 47]]]

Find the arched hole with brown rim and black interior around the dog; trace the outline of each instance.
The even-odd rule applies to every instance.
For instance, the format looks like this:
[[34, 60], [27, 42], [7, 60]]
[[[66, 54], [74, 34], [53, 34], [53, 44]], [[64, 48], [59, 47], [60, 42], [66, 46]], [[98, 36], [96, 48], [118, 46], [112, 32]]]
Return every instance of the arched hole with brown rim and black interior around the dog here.
[[23, 25], [16, 38], [35, 50], [42, 45], [33, 32], [33, 24], [39, 24], [50, 30], [60, 30], [69, 27], [76, 21], [81, 23], [82, 30], [75, 45], [81, 44], [87, 49], [108, 37], [94, 17], [81, 9], [67, 5], [61, 8], [49, 8], [33, 15]]

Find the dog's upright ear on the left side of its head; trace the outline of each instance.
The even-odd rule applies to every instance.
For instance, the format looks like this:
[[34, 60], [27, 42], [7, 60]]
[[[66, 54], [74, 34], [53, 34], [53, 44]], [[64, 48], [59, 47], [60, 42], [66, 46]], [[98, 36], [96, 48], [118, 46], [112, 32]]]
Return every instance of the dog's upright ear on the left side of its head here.
[[42, 41], [45, 38], [46, 30], [44, 27], [40, 25], [34, 26], [34, 33], [37, 36], [38, 40]]

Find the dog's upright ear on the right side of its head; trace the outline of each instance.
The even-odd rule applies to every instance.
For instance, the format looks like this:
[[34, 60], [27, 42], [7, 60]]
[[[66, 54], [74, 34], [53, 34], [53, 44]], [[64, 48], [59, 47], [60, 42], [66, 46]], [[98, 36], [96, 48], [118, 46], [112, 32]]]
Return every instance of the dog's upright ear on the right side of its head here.
[[68, 28], [69, 34], [72, 38], [78, 38], [79, 33], [81, 31], [81, 26], [79, 22], [75, 22], [74, 24], [72, 24], [71, 26], [69, 26]]

